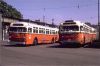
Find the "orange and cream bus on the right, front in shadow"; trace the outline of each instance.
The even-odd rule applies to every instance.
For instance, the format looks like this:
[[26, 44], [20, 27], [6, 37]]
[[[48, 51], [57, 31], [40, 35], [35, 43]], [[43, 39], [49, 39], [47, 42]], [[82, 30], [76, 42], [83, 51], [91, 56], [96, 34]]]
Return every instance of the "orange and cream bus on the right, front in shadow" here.
[[75, 20], [66, 20], [59, 26], [60, 44], [77, 44], [84, 46], [96, 40], [97, 31], [95, 28]]

